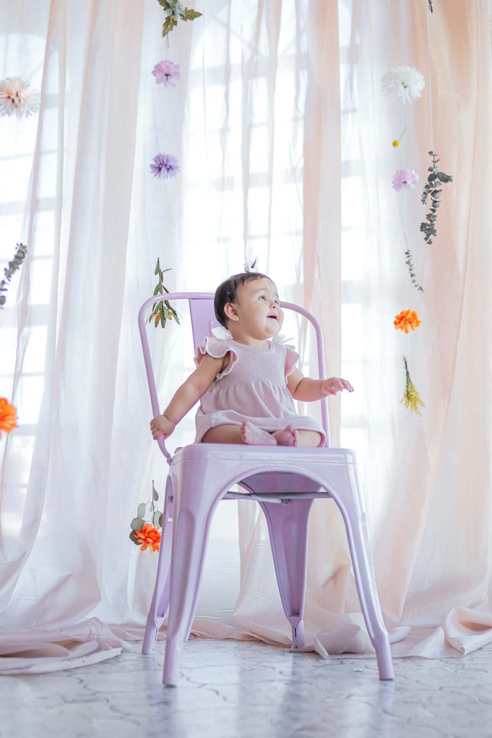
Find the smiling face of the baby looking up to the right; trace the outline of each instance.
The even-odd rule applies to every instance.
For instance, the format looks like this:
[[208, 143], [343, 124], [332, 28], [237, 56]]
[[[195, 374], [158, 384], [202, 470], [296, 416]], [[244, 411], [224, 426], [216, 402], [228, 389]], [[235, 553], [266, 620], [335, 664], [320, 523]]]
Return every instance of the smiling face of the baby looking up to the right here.
[[241, 328], [254, 338], [271, 338], [282, 327], [277, 287], [268, 277], [245, 282], [238, 291], [237, 308]]

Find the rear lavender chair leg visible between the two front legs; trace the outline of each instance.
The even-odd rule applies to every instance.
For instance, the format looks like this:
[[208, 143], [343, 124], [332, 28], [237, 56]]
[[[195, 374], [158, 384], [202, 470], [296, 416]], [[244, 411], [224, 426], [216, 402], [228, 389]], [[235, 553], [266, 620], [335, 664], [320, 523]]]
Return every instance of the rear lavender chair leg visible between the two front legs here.
[[308, 523], [313, 500], [287, 504], [260, 502], [270, 534], [271, 553], [285, 615], [292, 627], [292, 647], [302, 648], [308, 565]]

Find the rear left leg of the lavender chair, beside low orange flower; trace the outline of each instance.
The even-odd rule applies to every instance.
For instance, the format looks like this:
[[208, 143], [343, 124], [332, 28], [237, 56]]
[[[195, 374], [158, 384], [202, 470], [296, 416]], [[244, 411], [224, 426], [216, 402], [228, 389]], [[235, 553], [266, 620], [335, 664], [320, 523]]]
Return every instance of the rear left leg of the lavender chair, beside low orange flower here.
[[169, 607], [170, 562], [173, 547], [173, 485], [167, 477], [162, 513], [161, 549], [157, 565], [156, 584], [153, 588], [152, 601], [145, 626], [142, 653], [150, 654], [156, 648], [157, 632], [161, 627]]

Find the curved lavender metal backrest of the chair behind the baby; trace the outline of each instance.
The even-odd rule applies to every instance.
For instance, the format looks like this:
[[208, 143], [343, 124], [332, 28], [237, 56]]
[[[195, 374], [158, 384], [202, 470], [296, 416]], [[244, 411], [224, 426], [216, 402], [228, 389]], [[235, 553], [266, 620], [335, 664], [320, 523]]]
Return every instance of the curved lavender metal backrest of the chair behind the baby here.
[[[204, 338], [212, 336], [213, 328], [224, 328], [218, 323], [215, 318], [214, 306], [213, 306], [214, 294], [212, 292], [170, 292], [166, 294], [166, 300], [188, 300], [190, 305], [190, 317], [191, 327], [193, 331], [193, 345], [195, 350], [197, 346], [204, 345]], [[145, 371], [147, 373], [147, 381], [150, 391], [150, 404], [152, 405], [152, 412], [154, 417], [159, 415], [159, 400], [157, 398], [156, 380], [153, 374], [152, 360], [150, 358], [150, 348], [148, 343], [148, 335], [146, 328], [145, 312], [158, 301], [155, 295], [145, 300], [142, 307], [139, 310], [139, 333], [142, 341], [142, 350], [144, 354]], [[304, 308], [294, 305], [294, 303], [280, 302], [280, 307], [283, 310], [292, 310], [305, 317], [311, 325], [313, 325], [316, 333], [316, 350], [318, 354], [318, 372], [322, 379], [325, 379], [325, 351], [323, 345], [323, 334], [321, 326], [313, 315], [305, 310]], [[321, 400], [321, 417], [322, 426], [326, 434], [326, 445], [330, 446], [330, 428], [328, 425], [328, 399], [324, 397]], [[162, 436], [159, 438], [159, 448], [161, 449], [164, 456], [170, 460], [170, 453], [167, 451]]]

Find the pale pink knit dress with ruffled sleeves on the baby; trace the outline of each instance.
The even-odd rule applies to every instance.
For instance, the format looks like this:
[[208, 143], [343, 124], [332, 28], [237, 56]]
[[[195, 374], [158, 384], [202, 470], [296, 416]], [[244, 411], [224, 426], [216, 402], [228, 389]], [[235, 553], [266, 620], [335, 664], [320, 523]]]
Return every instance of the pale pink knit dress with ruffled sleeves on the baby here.
[[205, 354], [215, 359], [230, 353], [229, 366], [219, 373], [201, 399], [196, 413], [196, 438], [199, 443], [209, 428], [242, 425], [249, 420], [262, 430], [274, 432], [291, 424], [297, 430], [316, 430], [325, 445], [322, 426], [313, 418], [297, 415], [287, 377], [294, 371], [299, 354], [291, 346], [268, 340], [268, 349], [253, 348], [234, 339], [206, 338], [198, 346], [195, 364]]

